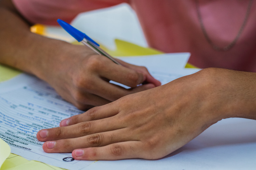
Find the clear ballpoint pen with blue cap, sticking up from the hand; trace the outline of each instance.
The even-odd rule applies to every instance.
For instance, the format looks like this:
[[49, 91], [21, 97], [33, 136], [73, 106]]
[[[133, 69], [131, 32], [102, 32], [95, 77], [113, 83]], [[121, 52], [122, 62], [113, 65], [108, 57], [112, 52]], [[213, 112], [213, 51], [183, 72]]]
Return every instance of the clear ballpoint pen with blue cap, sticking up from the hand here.
[[58, 19], [57, 22], [60, 24], [60, 26], [66, 30], [70, 35], [72, 35], [78, 42], [82, 42], [84, 45], [88, 46], [90, 49], [95, 51], [99, 55], [104, 55], [108, 57], [110, 60], [112, 60], [114, 63], [121, 65], [118, 63], [112, 56], [110, 56], [108, 53], [106, 53], [104, 50], [100, 48], [100, 45], [96, 43], [93, 39], [88, 37], [85, 33], [82, 33], [81, 31], [75, 29], [67, 22]]

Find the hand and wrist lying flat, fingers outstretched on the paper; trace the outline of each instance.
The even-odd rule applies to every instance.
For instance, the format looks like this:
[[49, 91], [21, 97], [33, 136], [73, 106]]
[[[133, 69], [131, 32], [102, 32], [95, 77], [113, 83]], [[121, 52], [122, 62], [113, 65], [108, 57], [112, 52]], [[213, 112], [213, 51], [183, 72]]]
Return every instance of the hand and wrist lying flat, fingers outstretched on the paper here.
[[158, 159], [219, 120], [256, 119], [256, 73], [207, 68], [41, 130], [49, 153], [82, 160]]

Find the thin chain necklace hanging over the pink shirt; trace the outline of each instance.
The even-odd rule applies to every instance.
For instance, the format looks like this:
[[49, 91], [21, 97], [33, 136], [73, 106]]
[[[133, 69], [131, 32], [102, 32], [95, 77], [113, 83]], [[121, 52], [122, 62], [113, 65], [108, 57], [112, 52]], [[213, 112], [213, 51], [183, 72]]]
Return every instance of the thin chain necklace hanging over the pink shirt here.
[[198, 0], [195, 0], [195, 1], [196, 1], [196, 10], [197, 10], [197, 15], [198, 15], [198, 19], [199, 19], [199, 22], [200, 22], [200, 26], [201, 26], [203, 35], [207, 39], [208, 43], [216, 51], [228, 51], [229, 49], [231, 49], [234, 46], [234, 44], [236, 44], [238, 38], [240, 37], [240, 35], [241, 35], [241, 33], [242, 33], [242, 31], [243, 31], [243, 29], [245, 27], [245, 24], [246, 24], [246, 22], [248, 20], [249, 14], [250, 14], [250, 10], [251, 10], [251, 7], [252, 7], [253, 0], [249, 1], [248, 7], [247, 7], [247, 10], [246, 10], [246, 14], [245, 14], [245, 17], [244, 17], [244, 20], [243, 20], [243, 23], [242, 23], [242, 25], [241, 25], [241, 27], [240, 27], [236, 37], [233, 39], [233, 41], [231, 41], [231, 43], [229, 43], [225, 47], [219, 47], [216, 44], [214, 44], [213, 41], [211, 40], [211, 38], [209, 37], [209, 35], [207, 34], [207, 32], [205, 30], [205, 27], [204, 27], [204, 24], [203, 24], [202, 16], [201, 16], [201, 13], [200, 13], [200, 8], [199, 8]]

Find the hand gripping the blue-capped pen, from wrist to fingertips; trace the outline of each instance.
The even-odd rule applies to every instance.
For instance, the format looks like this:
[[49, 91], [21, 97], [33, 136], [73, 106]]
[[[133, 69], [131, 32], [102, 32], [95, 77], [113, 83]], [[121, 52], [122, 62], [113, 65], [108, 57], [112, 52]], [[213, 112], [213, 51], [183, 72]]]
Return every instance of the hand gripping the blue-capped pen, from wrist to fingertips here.
[[[117, 65], [85, 46], [58, 46], [55, 53], [54, 58], [42, 59], [42, 66], [45, 67], [39, 69], [41, 71], [37, 75], [54, 87], [64, 99], [82, 110], [161, 85], [145, 67], [120, 60], [122, 66]], [[131, 88], [111, 84], [110, 80]], [[143, 85], [137, 87], [138, 84]]]

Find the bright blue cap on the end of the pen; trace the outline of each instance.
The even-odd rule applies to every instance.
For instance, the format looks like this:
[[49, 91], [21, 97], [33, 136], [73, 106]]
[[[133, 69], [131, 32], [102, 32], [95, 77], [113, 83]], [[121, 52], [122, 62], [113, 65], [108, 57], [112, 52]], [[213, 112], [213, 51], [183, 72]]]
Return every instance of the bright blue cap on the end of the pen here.
[[82, 33], [81, 31], [75, 29], [67, 22], [58, 19], [57, 22], [60, 24], [60, 26], [66, 30], [72, 37], [74, 37], [78, 42], [82, 41], [84, 38], [94, 43], [96, 46], [100, 46], [98, 43], [96, 43], [93, 39], [88, 37], [85, 33]]

